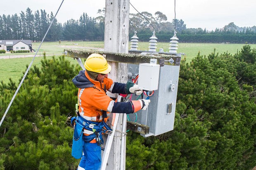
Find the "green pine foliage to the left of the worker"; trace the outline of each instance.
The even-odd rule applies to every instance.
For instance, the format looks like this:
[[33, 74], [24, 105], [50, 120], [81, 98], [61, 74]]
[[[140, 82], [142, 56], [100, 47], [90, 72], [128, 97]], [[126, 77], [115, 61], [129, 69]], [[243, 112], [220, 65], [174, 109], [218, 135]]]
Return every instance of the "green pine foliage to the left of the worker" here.
[[[68, 116], [75, 113], [77, 89], [71, 78], [77, 66], [64, 56], [47, 60], [29, 71], [1, 126], [0, 168], [6, 170], [74, 170], [71, 156], [73, 129]], [[15, 84], [0, 85], [1, 115], [15, 91]]]

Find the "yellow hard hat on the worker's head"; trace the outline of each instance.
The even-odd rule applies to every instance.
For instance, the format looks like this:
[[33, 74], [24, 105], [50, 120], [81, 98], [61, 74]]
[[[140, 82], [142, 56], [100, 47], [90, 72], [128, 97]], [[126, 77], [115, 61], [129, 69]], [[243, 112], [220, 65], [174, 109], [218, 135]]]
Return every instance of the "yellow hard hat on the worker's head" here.
[[85, 69], [101, 74], [108, 74], [111, 70], [111, 65], [107, 63], [104, 56], [100, 54], [91, 54], [85, 61]]

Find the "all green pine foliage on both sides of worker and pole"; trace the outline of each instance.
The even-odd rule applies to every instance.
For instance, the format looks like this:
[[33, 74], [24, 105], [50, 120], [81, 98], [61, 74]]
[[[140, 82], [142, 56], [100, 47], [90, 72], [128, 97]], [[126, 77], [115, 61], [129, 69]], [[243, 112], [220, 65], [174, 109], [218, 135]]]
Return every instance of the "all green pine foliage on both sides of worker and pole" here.
[[[180, 65], [171, 132], [128, 132], [127, 170], [249, 170], [256, 165], [256, 50], [198, 54]], [[64, 57], [31, 68], [0, 128], [0, 169], [75, 170], [71, 157], [78, 65]], [[2, 116], [17, 85], [0, 84]]]

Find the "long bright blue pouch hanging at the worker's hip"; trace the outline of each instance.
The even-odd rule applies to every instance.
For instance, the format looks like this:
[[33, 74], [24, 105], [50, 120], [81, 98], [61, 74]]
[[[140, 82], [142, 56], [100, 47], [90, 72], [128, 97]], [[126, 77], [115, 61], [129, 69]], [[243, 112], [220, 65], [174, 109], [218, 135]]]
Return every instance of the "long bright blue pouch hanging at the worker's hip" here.
[[73, 135], [73, 144], [72, 144], [72, 153], [71, 155], [80, 159], [83, 156], [83, 125], [75, 121], [74, 135]]

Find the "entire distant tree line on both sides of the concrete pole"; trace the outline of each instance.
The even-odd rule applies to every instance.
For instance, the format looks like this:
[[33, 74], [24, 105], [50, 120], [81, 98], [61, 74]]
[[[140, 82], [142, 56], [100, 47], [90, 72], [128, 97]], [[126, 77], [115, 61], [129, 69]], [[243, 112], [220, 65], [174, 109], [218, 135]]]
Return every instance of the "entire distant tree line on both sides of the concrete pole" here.
[[[103, 41], [104, 13], [105, 9], [99, 9], [100, 16], [96, 18], [83, 13], [78, 20], [69, 19], [63, 24], [55, 19], [45, 41]], [[41, 41], [53, 18], [52, 12], [49, 15], [45, 10], [40, 9], [33, 13], [29, 8], [26, 12], [21, 11], [19, 16], [0, 15], [0, 40]], [[168, 22], [166, 15], [159, 11], [154, 15], [149, 12], [130, 14], [129, 37], [132, 37], [136, 31], [139, 41], [149, 41], [155, 30], [157, 41], [169, 42], [174, 29], [179, 42], [256, 43], [256, 26], [238, 27], [231, 22], [221, 29], [208, 31], [202, 28], [186, 28], [182, 19]]]

